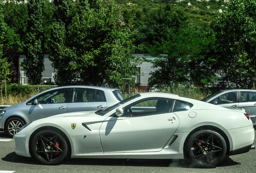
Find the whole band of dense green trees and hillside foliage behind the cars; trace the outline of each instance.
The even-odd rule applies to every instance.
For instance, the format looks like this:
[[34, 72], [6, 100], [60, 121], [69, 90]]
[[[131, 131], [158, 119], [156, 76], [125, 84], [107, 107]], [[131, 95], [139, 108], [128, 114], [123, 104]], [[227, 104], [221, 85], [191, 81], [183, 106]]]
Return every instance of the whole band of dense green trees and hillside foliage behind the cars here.
[[44, 51], [61, 85], [121, 87], [122, 78], [137, 75], [135, 51], [157, 57], [151, 87], [254, 84], [256, 0], [29, 0], [1, 7], [1, 62], [17, 64], [14, 52], [26, 52], [33, 84], [40, 83]]

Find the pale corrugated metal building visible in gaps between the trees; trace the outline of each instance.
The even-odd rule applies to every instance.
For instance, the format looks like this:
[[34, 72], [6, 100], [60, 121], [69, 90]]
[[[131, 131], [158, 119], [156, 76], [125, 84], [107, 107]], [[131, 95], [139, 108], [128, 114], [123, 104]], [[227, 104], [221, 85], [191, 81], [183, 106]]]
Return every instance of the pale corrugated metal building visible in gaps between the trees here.
[[[148, 60], [154, 60], [155, 57], [152, 56], [145, 56], [144, 54], [134, 54], [134, 56], [137, 57], [143, 57]], [[45, 84], [51, 84], [54, 83], [54, 68], [51, 65], [51, 61], [49, 60], [49, 54], [44, 54], [44, 68], [45, 70], [42, 72], [42, 83]], [[23, 70], [23, 67], [21, 66], [21, 62], [26, 58], [25, 55], [20, 55], [20, 65], [19, 65], [19, 83], [21, 84], [28, 84], [28, 78], [25, 74], [25, 71]], [[140, 76], [136, 78], [136, 82], [140, 83], [140, 90], [147, 91], [148, 90], [148, 79], [150, 77], [150, 72], [155, 71], [155, 69], [152, 68], [151, 62], [142, 62], [142, 64], [138, 65]]]

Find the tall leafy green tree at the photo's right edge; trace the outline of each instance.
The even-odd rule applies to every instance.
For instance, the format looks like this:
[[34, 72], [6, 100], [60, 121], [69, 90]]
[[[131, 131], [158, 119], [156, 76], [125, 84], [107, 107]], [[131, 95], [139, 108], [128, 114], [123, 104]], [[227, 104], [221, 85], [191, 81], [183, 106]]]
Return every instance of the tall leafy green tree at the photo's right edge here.
[[221, 84], [252, 87], [256, 77], [256, 0], [233, 0], [217, 18], [217, 72]]

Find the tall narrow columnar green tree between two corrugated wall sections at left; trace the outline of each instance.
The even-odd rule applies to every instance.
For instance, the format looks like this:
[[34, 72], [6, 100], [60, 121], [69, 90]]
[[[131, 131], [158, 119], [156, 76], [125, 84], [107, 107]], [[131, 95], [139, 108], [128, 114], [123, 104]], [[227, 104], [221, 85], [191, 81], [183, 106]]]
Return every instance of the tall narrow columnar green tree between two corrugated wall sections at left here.
[[26, 58], [22, 66], [30, 84], [39, 84], [44, 70], [43, 65], [43, 7], [42, 0], [29, 0], [27, 3], [29, 20], [25, 44]]

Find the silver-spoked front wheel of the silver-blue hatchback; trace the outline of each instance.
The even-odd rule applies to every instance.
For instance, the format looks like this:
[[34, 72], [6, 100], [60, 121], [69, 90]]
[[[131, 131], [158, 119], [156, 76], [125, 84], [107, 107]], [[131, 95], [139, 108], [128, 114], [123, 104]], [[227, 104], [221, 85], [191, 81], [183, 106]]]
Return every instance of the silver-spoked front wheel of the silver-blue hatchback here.
[[6, 122], [4, 129], [10, 137], [13, 137], [24, 125], [25, 123], [23, 120], [14, 117]]

